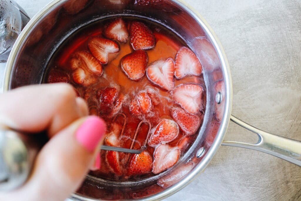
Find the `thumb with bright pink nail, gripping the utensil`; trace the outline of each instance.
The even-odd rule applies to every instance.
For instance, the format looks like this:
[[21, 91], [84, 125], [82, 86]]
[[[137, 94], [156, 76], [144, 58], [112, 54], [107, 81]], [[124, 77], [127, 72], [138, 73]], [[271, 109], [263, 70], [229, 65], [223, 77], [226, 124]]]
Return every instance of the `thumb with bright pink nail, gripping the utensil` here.
[[57, 133], [39, 153], [25, 192], [29, 200], [64, 200], [85, 178], [96, 157], [106, 125], [101, 118], [90, 116], [73, 122]]

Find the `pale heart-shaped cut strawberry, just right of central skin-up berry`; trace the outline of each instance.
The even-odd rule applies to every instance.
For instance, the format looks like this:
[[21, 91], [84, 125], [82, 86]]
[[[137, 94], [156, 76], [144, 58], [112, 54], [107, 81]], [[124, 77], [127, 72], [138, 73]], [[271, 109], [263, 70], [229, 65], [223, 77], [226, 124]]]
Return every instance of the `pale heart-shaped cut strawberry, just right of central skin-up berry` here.
[[147, 67], [146, 71], [148, 79], [165, 90], [173, 89], [174, 73], [175, 65], [172, 58], [155, 61]]

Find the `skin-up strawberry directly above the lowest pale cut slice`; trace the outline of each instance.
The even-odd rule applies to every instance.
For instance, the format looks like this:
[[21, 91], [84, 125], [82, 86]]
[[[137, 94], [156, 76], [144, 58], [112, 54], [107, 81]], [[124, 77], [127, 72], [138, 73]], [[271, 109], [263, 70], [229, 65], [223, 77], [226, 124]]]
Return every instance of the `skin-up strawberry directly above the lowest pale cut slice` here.
[[152, 133], [148, 140], [149, 146], [156, 146], [158, 144], [169, 143], [178, 137], [179, 126], [170, 119], [163, 119], [157, 125], [156, 130]]

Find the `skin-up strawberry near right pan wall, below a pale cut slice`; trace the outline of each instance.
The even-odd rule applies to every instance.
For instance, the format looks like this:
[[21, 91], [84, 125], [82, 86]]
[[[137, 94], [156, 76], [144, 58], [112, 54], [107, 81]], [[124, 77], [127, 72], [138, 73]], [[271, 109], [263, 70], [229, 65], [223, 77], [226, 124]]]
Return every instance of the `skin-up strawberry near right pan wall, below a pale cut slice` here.
[[198, 115], [193, 115], [179, 107], [172, 110], [172, 118], [187, 135], [197, 132], [201, 124], [201, 119]]

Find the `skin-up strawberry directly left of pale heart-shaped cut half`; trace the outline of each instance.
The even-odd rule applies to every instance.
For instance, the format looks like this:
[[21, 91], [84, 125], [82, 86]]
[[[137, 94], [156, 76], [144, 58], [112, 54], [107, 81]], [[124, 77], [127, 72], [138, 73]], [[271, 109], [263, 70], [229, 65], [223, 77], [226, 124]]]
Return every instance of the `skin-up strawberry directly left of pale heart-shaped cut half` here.
[[147, 60], [145, 51], [134, 51], [122, 59], [121, 68], [129, 79], [140, 80], [144, 76]]

